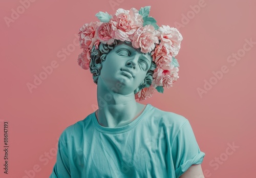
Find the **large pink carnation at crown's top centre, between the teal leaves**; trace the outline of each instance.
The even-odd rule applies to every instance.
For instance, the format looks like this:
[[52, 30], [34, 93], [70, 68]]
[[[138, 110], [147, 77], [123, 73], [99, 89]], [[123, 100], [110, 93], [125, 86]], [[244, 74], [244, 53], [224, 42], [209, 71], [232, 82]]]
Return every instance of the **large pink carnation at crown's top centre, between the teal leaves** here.
[[121, 41], [131, 41], [135, 31], [143, 27], [142, 20], [142, 16], [135, 8], [131, 8], [130, 11], [118, 9], [110, 20], [113, 30], [111, 36]]

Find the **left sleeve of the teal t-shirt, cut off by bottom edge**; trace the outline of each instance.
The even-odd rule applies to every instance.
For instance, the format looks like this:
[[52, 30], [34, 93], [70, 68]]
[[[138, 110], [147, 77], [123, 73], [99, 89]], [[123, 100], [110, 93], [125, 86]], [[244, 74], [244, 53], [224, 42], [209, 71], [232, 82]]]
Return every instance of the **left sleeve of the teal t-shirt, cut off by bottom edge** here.
[[70, 178], [70, 165], [68, 158], [67, 137], [63, 131], [58, 141], [58, 151], [56, 163], [53, 167], [52, 173], [49, 178]]

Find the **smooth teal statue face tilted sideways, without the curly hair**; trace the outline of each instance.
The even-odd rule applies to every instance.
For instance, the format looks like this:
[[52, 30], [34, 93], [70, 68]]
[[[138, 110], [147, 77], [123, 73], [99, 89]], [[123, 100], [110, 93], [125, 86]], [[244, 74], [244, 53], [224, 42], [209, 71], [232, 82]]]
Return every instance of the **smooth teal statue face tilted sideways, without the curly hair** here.
[[133, 48], [132, 44], [120, 41], [102, 63], [99, 78], [111, 90], [123, 95], [130, 94], [143, 82], [151, 62], [150, 54], [144, 54]]

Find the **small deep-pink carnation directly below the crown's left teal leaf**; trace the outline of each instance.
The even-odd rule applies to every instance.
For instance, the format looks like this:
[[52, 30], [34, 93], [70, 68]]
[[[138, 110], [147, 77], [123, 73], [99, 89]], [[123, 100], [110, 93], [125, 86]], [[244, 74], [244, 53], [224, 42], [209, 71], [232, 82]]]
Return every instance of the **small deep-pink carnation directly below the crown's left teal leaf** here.
[[114, 42], [114, 38], [111, 37], [111, 24], [101, 24], [98, 28], [97, 36], [100, 42], [104, 44], [112, 44]]

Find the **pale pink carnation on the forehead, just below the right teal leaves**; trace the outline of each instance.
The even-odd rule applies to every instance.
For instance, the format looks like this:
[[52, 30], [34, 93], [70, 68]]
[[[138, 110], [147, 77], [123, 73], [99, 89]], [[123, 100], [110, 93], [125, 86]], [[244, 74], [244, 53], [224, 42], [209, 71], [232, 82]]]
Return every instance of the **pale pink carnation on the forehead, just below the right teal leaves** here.
[[152, 25], [140, 27], [134, 34], [132, 46], [141, 48], [142, 53], [149, 53], [155, 48], [155, 43], [159, 43], [159, 32]]

